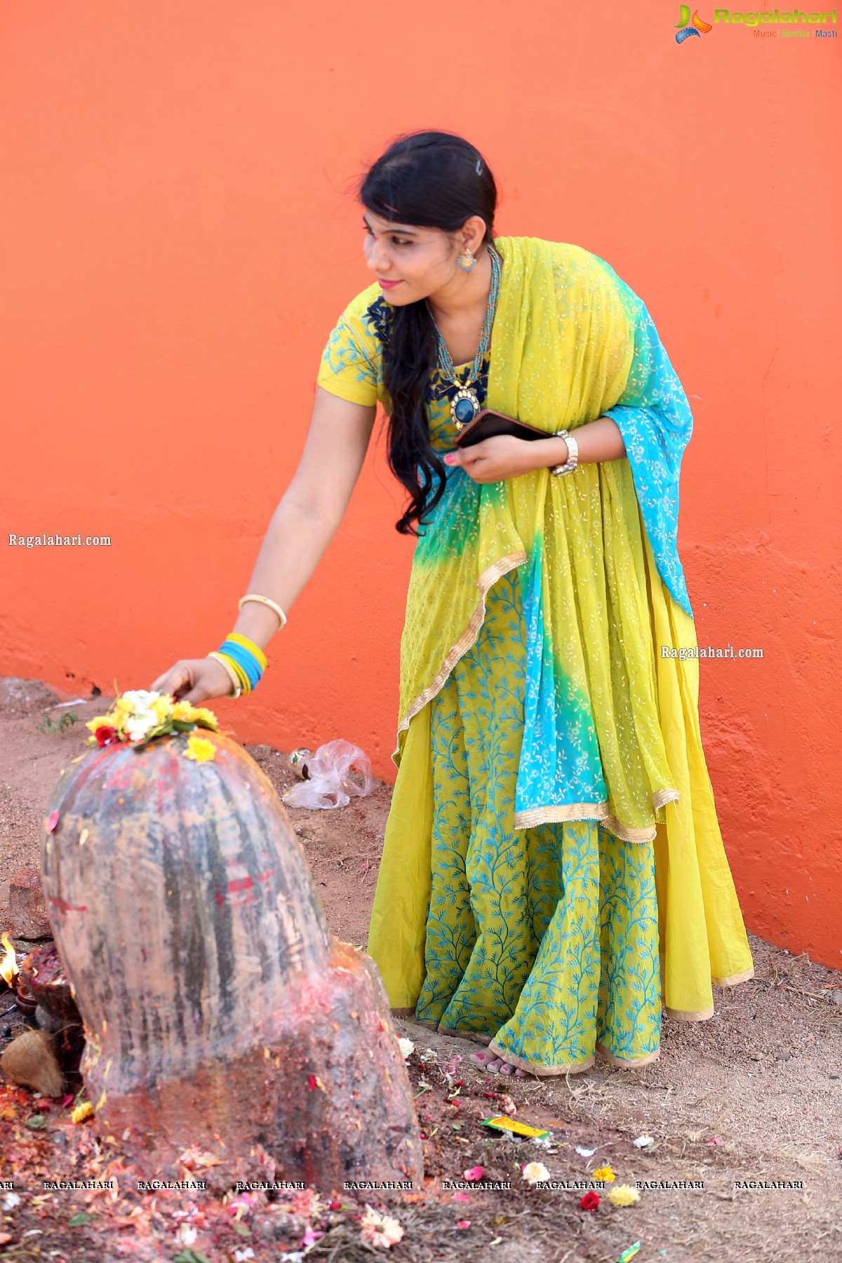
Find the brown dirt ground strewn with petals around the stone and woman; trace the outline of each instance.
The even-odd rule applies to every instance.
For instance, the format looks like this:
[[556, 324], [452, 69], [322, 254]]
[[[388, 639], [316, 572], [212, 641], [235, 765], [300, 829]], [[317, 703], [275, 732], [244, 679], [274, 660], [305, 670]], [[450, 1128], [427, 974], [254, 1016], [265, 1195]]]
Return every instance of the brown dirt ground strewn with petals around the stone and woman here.
[[[0, 679], [0, 930], [8, 919], [9, 877], [24, 864], [38, 864], [43, 806], [59, 769], [82, 751], [87, 735], [82, 722], [47, 733], [38, 725], [45, 715], [56, 724], [66, 712], [90, 719], [106, 709], [107, 698], [58, 709], [54, 703], [37, 682]], [[293, 783], [284, 753], [269, 745], [247, 749], [279, 792]], [[364, 947], [389, 801], [390, 787], [377, 784], [370, 797], [336, 811], [289, 810], [333, 932]], [[567, 1079], [501, 1082], [471, 1063], [477, 1045], [396, 1021], [399, 1033], [415, 1045], [408, 1066], [424, 1132], [425, 1191], [399, 1201], [367, 1194], [353, 1202], [345, 1195], [341, 1210], [337, 1202], [336, 1212], [312, 1221], [323, 1235], [309, 1247], [297, 1245], [294, 1233], [279, 1240], [280, 1209], [284, 1230], [304, 1223], [295, 1220], [294, 1207], [256, 1207], [247, 1212], [251, 1228], [245, 1233], [245, 1219], [213, 1219], [208, 1207], [205, 1220], [201, 1214], [191, 1218], [198, 1228], [187, 1247], [187, 1238], [174, 1235], [178, 1224], [188, 1223], [173, 1220], [179, 1206], [162, 1202], [151, 1211], [148, 1201], [134, 1218], [129, 1204], [120, 1204], [122, 1219], [112, 1220], [116, 1226], [106, 1244], [96, 1215], [104, 1228], [109, 1220], [96, 1210], [98, 1204], [91, 1209], [91, 1195], [78, 1206], [68, 1200], [76, 1195], [58, 1202], [35, 1197], [42, 1172], [50, 1161], [56, 1166], [45, 1130], [54, 1132], [53, 1139], [69, 1135], [61, 1142], [64, 1168], [78, 1133], [87, 1137], [77, 1154], [80, 1170], [111, 1154], [101, 1152], [90, 1124], [68, 1129], [57, 1103], [0, 1081], [0, 1095], [6, 1092], [0, 1124], [5, 1119], [16, 1128], [14, 1146], [4, 1139], [0, 1178], [8, 1177], [13, 1148], [16, 1181], [20, 1161], [29, 1161], [33, 1173], [32, 1187], [16, 1185], [20, 1201], [3, 1214], [0, 1258], [300, 1263], [307, 1257], [357, 1263], [386, 1253], [360, 1242], [353, 1216], [367, 1200], [390, 1206], [404, 1226], [403, 1240], [389, 1252], [398, 1263], [614, 1263], [636, 1242], [640, 1263], [839, 1260], [842, 974], [751, 935], [750, 942], [756, 976], [733, 989], [715, 988], [716, 1015], [708, 1022], [664, 1017], [660, 1060], [640, 1071], [598, 1060], [592, 1070]], [[8, 1021], [0, 1012], [0, 1029]], [[5, 1042], [0, 1036], [0, 1050]], [[447, 1066], [454, 1055], [462, 1060]], [[446, 1070], [452, 1071], [449, 1081]], [[549, 1148], [495, 1138], [481, 1127], [483, 1118], [513, 1105], [515, 1118], [552, 1132]], [[48, 1127], [27, 1133], [25, 1120], [37, 1111]], [[634, 1140], [644, 1134], [653, 1143], [639, 1148]], [[595, 1152], [579, 1154], [577, 1146]], [[615, 1207], [606, 1185], [600, 1206], [588, 1212], [579, 1206], [581, 1190], [530, 1187], [521, 1167], [531, 1161], [543, 1162], [552, 1181], [587, 1181], [608, 1164], [617, 1185], [701, 1181], [703, 1187], [643, 1187], [636, 1204]], [[485, 1180], [511, 1181], [511, 1188], [457, 1190], [454, 1197], [443, 1187], [477, 1164]], [[784, 1186], [770, 1187], [775, 1181]], [[0, 1191], [0, 1205], [3, 1197]], [[88, 1220], [68, 1226], [83, 1206]]]

